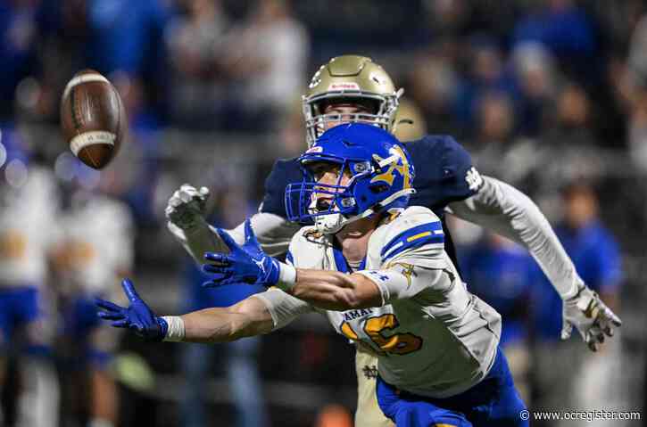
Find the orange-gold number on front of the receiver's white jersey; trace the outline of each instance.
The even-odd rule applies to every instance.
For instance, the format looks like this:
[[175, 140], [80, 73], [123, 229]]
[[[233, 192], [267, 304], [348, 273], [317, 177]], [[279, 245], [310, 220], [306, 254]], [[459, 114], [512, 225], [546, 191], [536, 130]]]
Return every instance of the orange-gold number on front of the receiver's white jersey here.
[[[413, 333], [395, 333], [386, 335], [387, 330], [393, 330], [400, 324], [394, 315], [382, 315], [369, 317], [364, 324], [364, 332], [369, 335], [370, 340], [382, 351], [388, 354], [406, 355], [417, 351], [422, 347], [422, 338]], [[353, 331], [348, 322], [341, 327], [342, 333], [351, 340], [357, 341], [359, 337]]]

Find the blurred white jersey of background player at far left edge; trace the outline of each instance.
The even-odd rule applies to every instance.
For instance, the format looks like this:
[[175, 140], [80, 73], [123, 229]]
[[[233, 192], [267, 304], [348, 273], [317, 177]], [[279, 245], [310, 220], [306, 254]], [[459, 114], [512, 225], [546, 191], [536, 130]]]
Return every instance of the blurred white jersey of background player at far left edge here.
[[20, 189], [2, 191], [0, 202], [0, 287], [41, 286], [48, 254], [58, 238], [59, 193], [45, 168], [29, 168]]

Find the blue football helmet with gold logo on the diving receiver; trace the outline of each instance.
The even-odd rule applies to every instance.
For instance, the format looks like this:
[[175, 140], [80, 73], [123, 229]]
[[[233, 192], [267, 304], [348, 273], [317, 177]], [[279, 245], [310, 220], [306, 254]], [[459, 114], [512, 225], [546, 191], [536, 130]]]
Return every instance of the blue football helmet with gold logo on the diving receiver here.
[[[406, 208], [415, 192], [409, 153], [394, 135], [373, 125], [349, 123], [328, 129], [298, 161], [303, 181], [286, 187], [287, 218], [314, 222], [323, 234], [335, 234], [360, 218]], [[317, 182], [312, 167], [322, 162], [337, 166], [336, 185]], [[344, 174], [350, 179], [342, 185]]]

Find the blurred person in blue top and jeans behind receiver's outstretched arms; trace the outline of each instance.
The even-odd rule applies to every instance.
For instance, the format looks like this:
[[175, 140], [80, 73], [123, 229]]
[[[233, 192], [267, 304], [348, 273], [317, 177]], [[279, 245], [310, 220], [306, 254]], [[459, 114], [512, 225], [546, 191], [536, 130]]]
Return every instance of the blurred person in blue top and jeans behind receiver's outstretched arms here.
[[[236, 226], [250, 213], [250, 203], [239, 188], [223, 189], [212, 194], [219, 209], [212, 215], [214, 226]], [[203, 288], [210, 275], [202, 272], [195, 260], [187, 259], [185, 267], [185, 299], [181, 312], [203, 308], [229, 307], [248, 296], [264, 291], [262, 286], [232, 284], [218, 288]], [[236, 427], [264, 427], [269, 424], [266, 414], [261, 378], [258, 372], [258, 351], [261, 337], [245, 338], [218, 345], [189, 344], [182, 349], [182, 372], [186, 381], [180, 406], [182, 425], [209, 425], [206, 410], [206, 379], [210, 373], [221, 372], [228, 380], [232, 404], [236, 409]], [[222, 369], [214, 369], [213, 365]]]

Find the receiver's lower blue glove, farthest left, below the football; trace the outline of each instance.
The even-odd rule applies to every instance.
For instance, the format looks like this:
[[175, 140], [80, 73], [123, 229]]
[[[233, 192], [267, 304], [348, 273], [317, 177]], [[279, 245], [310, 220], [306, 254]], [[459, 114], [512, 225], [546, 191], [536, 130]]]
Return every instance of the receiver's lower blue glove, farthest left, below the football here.
[[[128, 308], [123, 308], [110, 301], [96, 299], [98, 316], [111, 320], [115, 328], [128, 328], [142, 338], [150, 341], [162, 341], [169, 330], [169, 324], [162, 317], [155, 316], [144, 300], [139, 298], [135, 285], [129, 279], [121, 282], [123, 292], [130, 301]], [[103, 311], [102, 311], [103, 310]]]

